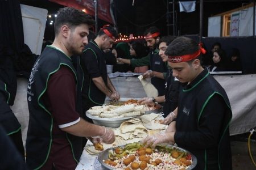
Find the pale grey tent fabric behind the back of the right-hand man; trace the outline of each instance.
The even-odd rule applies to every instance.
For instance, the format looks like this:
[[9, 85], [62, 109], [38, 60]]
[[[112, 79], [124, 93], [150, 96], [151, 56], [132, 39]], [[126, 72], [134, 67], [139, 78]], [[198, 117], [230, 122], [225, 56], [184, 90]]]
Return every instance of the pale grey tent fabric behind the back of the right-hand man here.
[[214, 78], [225, 89], [231, 104], [230, 135], [256, 127], [256, 74], [214, 75]]

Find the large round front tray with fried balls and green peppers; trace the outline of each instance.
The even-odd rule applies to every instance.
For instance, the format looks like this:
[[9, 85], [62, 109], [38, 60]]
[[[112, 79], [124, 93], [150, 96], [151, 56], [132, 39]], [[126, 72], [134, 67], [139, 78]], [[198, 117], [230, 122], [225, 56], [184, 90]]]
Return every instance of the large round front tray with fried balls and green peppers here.
[[145, 148], [141, 143], [129, 143], [101, 152], [98, 161], [107, 169], [193, 169], [196, 157], [183, 148], [158, 145]]

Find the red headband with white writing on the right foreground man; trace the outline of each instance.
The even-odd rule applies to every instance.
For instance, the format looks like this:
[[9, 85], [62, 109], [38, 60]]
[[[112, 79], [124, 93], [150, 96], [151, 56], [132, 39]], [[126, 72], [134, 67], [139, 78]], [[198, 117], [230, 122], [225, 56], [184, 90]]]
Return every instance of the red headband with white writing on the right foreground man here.
[[197, 50], [193, 54], [185, 54], [183, 56], [168, 56], [168, 61], [169, 62], [186, 62], [186, 61], [191, 61], [192, 59], [198, 57], [201, 53], [205, 54], [206, 50], [202, 47], [202, 44], [199, 43], [200, 49]]

